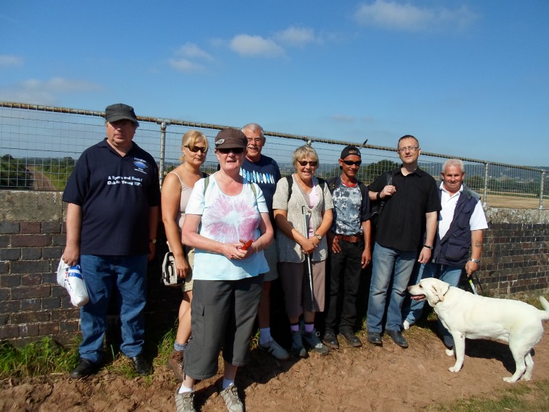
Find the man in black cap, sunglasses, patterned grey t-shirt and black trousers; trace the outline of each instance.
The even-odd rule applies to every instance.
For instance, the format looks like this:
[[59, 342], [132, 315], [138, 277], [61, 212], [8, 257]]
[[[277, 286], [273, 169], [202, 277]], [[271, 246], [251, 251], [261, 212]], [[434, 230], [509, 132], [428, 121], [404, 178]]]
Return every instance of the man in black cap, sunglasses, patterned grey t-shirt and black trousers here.
[[371, 260], [371, 225], [368, 188], [356, 179], [361, 163], [360, 150], [347, 146], [339, 159], [342, 174], [328, 181], [334, 200], [334, 220], [328, 232], [331, 271], [323, 341], [334, 349], [339, 347], [338, 331], [349, 345], [362, 346], [353, 327], [360, 273]]

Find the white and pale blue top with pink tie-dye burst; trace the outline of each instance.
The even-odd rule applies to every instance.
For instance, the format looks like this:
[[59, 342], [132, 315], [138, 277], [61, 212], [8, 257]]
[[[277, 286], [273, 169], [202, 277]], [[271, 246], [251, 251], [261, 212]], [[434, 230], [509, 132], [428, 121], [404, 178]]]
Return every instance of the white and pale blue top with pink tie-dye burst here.
[[[261, 213], [268, 213], [263, 192], [255, 183], [244, 179], [243, 190], [236, 196], [224, 194], [215, 174], [209, 177], [204, 193], [205, 179], [195, 183], [186, 214], [202, 216], [198, 233], [205, 238], [223, 243], [238, 243], [239, 239], [257, 240]], [[251, 185], [255, 185], [257, 196]], [[263, 251], [253, 253], [245, 260], [229, 260], [224, 255], [195, 249], [194, 280], [239, 280], [269, 271]]]

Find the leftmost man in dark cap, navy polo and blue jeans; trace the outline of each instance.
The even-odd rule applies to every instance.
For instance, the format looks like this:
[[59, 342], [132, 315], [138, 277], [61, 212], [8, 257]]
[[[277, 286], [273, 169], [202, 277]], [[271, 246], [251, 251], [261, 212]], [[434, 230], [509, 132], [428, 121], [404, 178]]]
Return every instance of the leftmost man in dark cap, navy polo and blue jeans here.
[[72, 378], [99, 369], [112, 295], [120, 309], [120, 350], [138, 374], [150, 372], [143, 356], [143, 308], [147, 262], [156, 252], [159, 171], [152, 156], [133, 142], [139, 123], [131, 106], [108, 106], [105, 119], [106, 138], [84, 150], [63, 193], [67, 245], [62, 259], [69, 266], [80, 264], [90, 296], [80, 309], [80, 361]]

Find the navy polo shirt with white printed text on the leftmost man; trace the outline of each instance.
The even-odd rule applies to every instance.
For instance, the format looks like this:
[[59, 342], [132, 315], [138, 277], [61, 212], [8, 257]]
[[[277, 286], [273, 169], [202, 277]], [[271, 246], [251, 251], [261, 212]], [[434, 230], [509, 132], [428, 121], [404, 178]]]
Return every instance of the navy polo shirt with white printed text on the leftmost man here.
[[146, 254], [149, 208], [160, 204], [158, 167], [137, 144], [121, 157], [105, 139], [84, 150], [63, 201], [82, 207], [82, 255]]

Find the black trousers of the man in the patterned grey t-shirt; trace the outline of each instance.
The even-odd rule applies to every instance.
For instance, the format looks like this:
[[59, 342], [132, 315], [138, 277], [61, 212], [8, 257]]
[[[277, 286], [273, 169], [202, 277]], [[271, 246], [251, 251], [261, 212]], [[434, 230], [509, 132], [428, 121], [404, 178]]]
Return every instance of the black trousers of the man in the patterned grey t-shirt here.
[[[356, 321], [356, 296], [362, 273], [364, 241], [339, 240], [341, 251], [330, 253], [330, 288], [327, 293], [326, 332], [352, 331]], [[338, 313], [340, 316], [338, 317]], [[339, 319], [339, 322], [338, 322]]]

